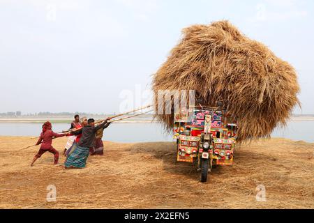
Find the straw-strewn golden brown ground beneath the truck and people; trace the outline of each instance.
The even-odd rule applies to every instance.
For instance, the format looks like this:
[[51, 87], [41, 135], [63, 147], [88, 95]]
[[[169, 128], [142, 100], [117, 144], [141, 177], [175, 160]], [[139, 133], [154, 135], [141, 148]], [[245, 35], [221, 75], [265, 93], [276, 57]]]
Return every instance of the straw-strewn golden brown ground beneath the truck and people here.
[[[314, 144], [287, 139], [237, 148], [233, 167], [218, 167], [208, 183], [188, 163], [175, 161], [169, 142], [117, 144], [89, 157], [85, 169], [54, 166], [29, 137], [0, 137], [0, 208], [314, 208]], [[66, 139], [54, 140], [63, 151]], [[65, 158], [60, 156], [60, 164]], [[47, 202], [47, 186], [57, 201]], [[257, 201], [264, 185], [266, 201]]]

